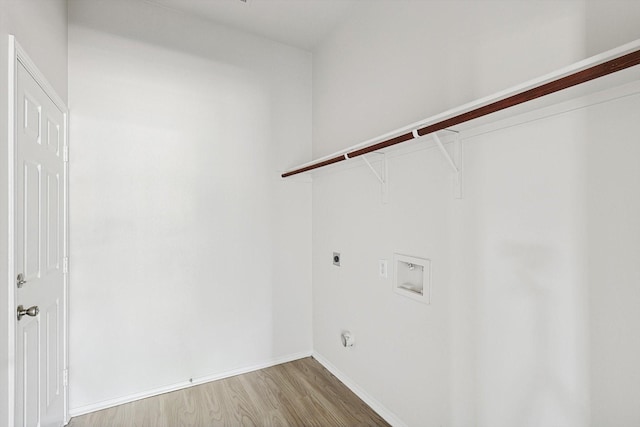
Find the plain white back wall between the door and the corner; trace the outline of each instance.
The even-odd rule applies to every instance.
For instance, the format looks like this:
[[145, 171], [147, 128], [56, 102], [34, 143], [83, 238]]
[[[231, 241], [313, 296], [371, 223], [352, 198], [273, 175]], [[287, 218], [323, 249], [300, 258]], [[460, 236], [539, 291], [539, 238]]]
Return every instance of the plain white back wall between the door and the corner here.
[[310, 54], [69, 8], [72, 413], [310, 354]]

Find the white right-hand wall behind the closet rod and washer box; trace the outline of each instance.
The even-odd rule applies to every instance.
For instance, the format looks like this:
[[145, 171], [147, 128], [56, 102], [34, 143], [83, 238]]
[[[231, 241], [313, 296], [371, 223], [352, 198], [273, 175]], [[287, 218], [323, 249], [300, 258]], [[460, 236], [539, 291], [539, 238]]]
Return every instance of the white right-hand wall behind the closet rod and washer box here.
[[[314, 53], [314, 155], [640, 38], [639, 19], [637, 2], [363, 6]], [[315, 174], [314, 350], [411, 426], [638, 424], [639, 110], [465, 138], [462, 201], [437, 150], [390, 160], [388, 205], [357, 162]], [[432, 259], [431, 305], [377, 277], [394, 252]]]

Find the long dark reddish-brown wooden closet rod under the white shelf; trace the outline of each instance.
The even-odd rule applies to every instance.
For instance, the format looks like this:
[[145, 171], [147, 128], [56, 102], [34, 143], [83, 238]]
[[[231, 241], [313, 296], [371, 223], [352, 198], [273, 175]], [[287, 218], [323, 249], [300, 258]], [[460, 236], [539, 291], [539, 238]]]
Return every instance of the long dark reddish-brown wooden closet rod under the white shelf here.
[[428, 135], [430, 133], [446, 129], [451, 126], [459, 125], [470, 120], [478, 119], [480, 117], [484, 117], [486, 115], [496, 113], [498, 111], [505, 110], [507, 108], [514, 107], [516, 105], [523, 104], [525, 102], [532, 101], [534, 99], [541, 98], [555, 92], [559, 92], [563, 89], [568, 89], [581, 83], [586, 83], [588, 81], [604, 77], [618, 71], [622, 71], [638, 64], [640, 64], [640, 50], [636, 50], [626, 55], [619, 56], [617, 58], [603, 62], [602, 64], [594, 65], [592, 67], [577, 71], [573, 74], [569, 74], [556, 80], [540, 84], [539, 86], [535, 86], [532, 89], [516, 93], [515, 95], [511, 95], [507, 98], [500, 99], [482, 107], [478, 107], [470, 111], [455, 115], [453, 117], [441, 120], [437, 123], [418, 128], [416, 131], [403, 133], [401, 135], [378, 142], [376, 144], [354, 149], [353, 151], [346, 152], [345, 154], [336, 155], [335, 157], [331, 157], [326, 160], [318, 161], [316, 163], [312, 163], [307, 166], [285, 172], [281, 176], [283, 178], [286, 178], [288, 176], [308, 172], [314, 169], [321, 168], [323, 166], [328, 166], [334, 163], [341, 162], [343, 160], [351, 159], [353, 157], [362, 156], [363, 154], [371, 153], [372, 151], [391, 147], [393, 145], [410, 141], [420, 136]]

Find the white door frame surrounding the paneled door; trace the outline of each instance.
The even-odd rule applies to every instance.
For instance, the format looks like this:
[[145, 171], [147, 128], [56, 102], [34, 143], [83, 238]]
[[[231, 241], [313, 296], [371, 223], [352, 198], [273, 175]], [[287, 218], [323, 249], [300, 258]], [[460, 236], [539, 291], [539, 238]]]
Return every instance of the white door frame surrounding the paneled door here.
[[8, 311], [8, 357], [9, 357], [9, 425], [13, 425], [15, 422], [15, 405], [16, 405], [16, 163], [17, 163], [17, 99], [16, 93], [18, 88], [18, 63], [22, 64], [24, 68], [29, 72], [31, 77], [40, 85], [45, 94], [53, 101], [55, 106], [64, 115], [64, 133], [63, 133], [63, 150], [64, 150], [64, 187], [63, 187], [63, 271], [64, 284], [63, 284], [63, 298], [64, 298], [64, 311], [62, 315], [64, 326], [63, 330], [63, 349], [64, 349], [64, 378], [63, 378], [63, 394], [64, 394], [64, 423], [69, 422], [69, 110], [65, 105], [62, 98], [56, 93], [55, 89], [47, 81], [44, 74], [38, 69], [35, 63], [29, 58], [27, 52], [20, 46], [15, 36], [9, 35], [9, 79], [8, 79], [8, 126], [9, 135], [7, 139], [8, 146], [8, 268], [7, 268], [7, 311]]

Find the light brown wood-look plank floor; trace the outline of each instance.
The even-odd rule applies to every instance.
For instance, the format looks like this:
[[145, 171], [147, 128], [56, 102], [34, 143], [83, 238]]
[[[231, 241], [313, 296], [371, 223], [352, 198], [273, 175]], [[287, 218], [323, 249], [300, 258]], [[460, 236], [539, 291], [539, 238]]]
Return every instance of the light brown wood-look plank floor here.
[[309, 357], [75, 417], [69, 427], [388, 425]]

